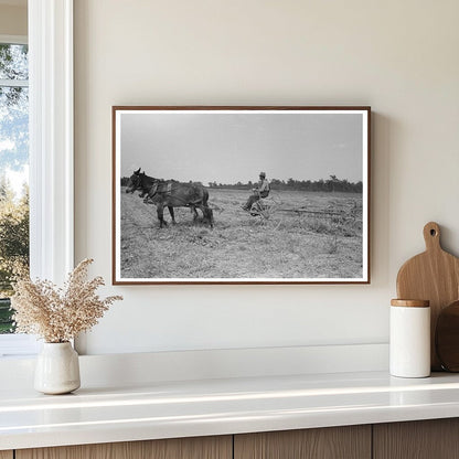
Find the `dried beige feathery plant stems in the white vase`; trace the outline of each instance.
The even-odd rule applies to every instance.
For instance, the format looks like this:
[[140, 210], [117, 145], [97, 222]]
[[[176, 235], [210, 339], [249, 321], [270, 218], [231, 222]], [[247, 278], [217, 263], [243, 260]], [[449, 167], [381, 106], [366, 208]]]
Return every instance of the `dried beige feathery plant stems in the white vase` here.
[[93, 259], [84, 259], [70, 274], [64, 288], [50, 280], [19, 278], [11, 298], [15, 332], [38, 334], [46, 342], [62, 343], [94, 327], [109, 306], [122, 297], [102, 299], [96, 295], [104, 279], [86, 280], [92, 263]]

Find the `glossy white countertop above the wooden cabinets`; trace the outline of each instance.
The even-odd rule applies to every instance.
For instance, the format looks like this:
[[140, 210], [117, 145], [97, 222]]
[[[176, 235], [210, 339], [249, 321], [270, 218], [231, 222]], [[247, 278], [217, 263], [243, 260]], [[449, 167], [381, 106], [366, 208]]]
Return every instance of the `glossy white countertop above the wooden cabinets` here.
[[459, 416], [459, 375], [386, 372], [0, 391], [0, 450]]

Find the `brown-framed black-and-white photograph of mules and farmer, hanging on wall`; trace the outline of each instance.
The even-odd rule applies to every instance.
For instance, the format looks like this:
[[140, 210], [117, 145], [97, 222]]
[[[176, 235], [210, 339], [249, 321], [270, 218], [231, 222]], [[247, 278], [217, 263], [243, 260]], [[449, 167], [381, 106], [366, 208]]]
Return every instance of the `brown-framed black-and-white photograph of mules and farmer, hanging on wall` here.
[[113, 107], [113, 282], [369, 284], [370, 107]]

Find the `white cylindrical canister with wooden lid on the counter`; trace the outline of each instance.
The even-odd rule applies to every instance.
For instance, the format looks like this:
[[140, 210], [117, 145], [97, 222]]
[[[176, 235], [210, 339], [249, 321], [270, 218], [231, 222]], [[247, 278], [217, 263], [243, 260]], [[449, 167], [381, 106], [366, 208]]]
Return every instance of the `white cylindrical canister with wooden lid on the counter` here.
[[389, 371], [393, 376], [430, 376], [429, 301], [391, 301], [389, 350]]

